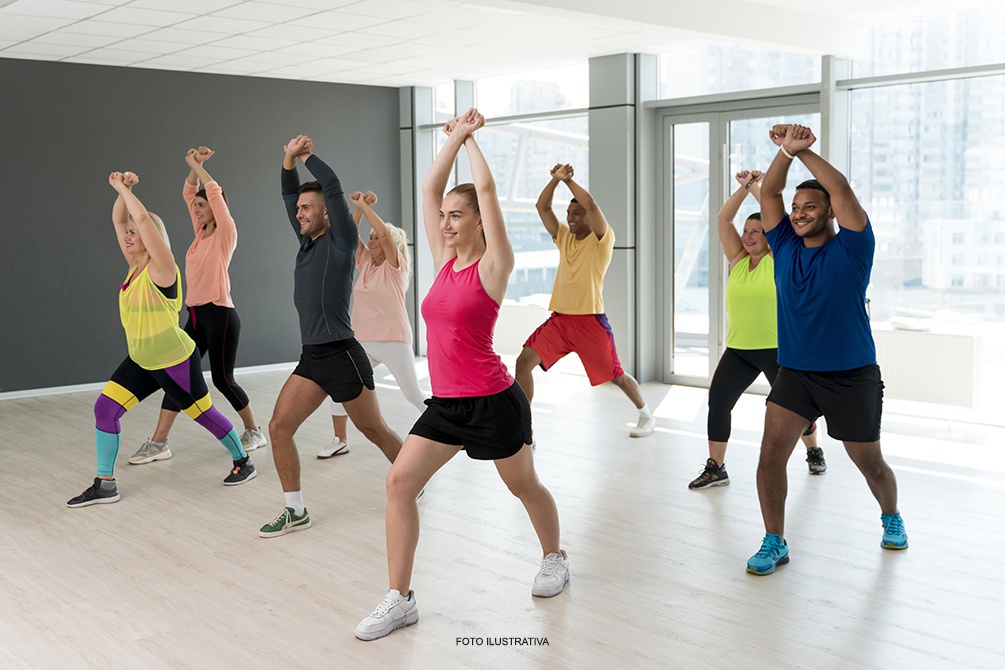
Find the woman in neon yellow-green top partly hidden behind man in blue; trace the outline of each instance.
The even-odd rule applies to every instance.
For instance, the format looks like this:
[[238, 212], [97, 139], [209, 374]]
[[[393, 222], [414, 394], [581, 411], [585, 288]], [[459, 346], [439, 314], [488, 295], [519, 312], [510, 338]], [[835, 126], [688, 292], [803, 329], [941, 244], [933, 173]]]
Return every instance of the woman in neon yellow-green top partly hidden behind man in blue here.
[[[778, 324], [776, 318], [775, 263], [764, 237], [761, 214], [755, 212], [744, 223], [743, 236], [733, 219], [748, 194], [760, 199], [762, 173], [737, 173], [738, 188], [719, 212], [719, 241], [730, 263], [726, 285], [729, 330], [726, 352], [709, 386], [709, 459], [691, 489], [725, 486], [726, 446], [730, 439], [731, 413], [740, 396], [764, 373], [769, 384], [778, 375]], [[827, 464], [816, 444], [816, 424], [803, 436], [810, 474], [823, 474]]]

